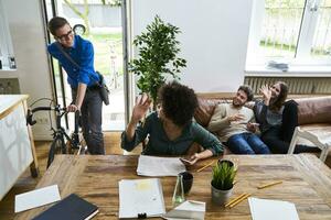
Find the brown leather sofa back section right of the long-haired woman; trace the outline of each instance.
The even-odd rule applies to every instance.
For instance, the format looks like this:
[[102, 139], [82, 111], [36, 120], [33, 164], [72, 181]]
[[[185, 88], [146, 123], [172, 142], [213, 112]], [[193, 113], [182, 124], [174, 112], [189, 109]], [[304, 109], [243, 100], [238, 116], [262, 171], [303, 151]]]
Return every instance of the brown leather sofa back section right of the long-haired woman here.
[[298, 106], [299, 125], [331, 123], [331, 97], [295, 99]]

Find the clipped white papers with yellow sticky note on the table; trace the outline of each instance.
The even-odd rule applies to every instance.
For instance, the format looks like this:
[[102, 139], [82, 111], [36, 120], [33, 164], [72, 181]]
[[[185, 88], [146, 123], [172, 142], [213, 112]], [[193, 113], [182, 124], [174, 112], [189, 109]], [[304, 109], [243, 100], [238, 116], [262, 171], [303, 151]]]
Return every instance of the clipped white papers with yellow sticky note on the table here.
[[166, 213], [160, 179], [122, 179], [119, 185], [119, 218], [160, 217]]

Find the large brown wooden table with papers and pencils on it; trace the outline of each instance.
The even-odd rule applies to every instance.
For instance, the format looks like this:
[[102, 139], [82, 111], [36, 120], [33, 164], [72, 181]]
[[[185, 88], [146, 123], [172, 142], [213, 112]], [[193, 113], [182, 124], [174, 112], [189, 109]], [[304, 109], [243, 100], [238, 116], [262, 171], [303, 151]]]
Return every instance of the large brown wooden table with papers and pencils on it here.
[[[252, 193], [257, 198], [287, 200], [296, 204], [301, 220], [331, 219], [331, 170], [314, 155], [228, 155], [226, 158], [238, 161], [234, 196]], [[211, 160], [215, 158], [191, 167], [194, 180], [186, 198], [206, 202], [205, 219], [250, 219], [247, 200], [232, 209], [211, 202], [211, 167], [194, 173]], [[145, 178], [136, 175], [137, 162], [137, 156], [60, 155], [36, 188], [57, 184], [62, 198], [75, 193], [98, 206], [99, 213], [94, 219], [117, 219], [118, 180]], [[284, 183], [265, 189], [256, 188], [275, 180]], [[166, 208], [170, 210], [175, 177], [162, 177], [161, 183]], [[15, 219], [31, 219], [45, 208], [22, 212]]]

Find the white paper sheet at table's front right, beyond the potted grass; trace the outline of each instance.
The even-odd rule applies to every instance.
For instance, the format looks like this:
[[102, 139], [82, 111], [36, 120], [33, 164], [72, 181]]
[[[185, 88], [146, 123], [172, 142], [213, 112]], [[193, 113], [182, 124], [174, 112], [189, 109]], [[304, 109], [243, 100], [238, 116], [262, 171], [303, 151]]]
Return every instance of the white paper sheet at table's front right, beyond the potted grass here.
[[253, 220], [299, 220], [296, 206], [288, 201], [248, 198]]

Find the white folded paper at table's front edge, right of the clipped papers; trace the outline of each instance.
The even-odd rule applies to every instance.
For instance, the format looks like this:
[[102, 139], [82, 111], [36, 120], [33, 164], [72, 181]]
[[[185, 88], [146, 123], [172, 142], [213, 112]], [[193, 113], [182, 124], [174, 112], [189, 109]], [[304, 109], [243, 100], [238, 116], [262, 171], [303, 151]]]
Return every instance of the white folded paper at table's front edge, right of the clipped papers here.
[[164, 219], [196, 219], [203, 220], [205, 213], [205, 202], [188, 200], [179, 205], [163, 216]]

